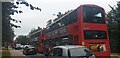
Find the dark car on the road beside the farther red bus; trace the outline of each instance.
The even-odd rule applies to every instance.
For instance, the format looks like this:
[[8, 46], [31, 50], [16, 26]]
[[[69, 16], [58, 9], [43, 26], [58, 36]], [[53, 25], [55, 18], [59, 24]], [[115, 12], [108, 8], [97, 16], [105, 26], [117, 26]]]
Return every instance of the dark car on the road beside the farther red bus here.
[[25, 45], [23, 47], [23, 54], [28, 55], [28, 54], [37, 54], [37, 51], [34, 46], [32, 45]]

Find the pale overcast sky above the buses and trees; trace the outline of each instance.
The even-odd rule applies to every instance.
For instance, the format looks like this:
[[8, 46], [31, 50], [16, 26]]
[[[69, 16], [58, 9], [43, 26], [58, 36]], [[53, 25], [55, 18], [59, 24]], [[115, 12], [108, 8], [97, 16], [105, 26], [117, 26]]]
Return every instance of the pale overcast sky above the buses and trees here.
[[[30, 10], [25, 5], [19, 5], [18, 10], [22, 10], [22, 14], [15, 14], [12, 18], [21, 20], [22, 23], [17, 23], [21, 28], [14, 28], [16, 35], [28, 35], [33, 28], [45, 27], [49, 19], [56, 18], [58, 12], [64, 13], [65, 11], [76, 9], [82, 4], [95, 4], [101, 6], [106, 12], [114, 6], [119, 0], [25, 0], [33, 6], [41, 8], [42, 11]], [[14, 22], [13, 22], [14, 23]], [[16, 23], [15, 23], [16, 24]]]

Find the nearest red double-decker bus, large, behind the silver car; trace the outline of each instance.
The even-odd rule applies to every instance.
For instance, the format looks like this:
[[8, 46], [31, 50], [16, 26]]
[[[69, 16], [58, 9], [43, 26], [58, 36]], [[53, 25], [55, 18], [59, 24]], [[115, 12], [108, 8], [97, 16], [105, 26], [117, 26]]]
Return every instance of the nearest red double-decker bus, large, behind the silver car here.
[[84, 45], [96, 56], [110, 56], [105, 11], [97, 5], [81, 5], [43, 29], [44, 52], [57, 45]]

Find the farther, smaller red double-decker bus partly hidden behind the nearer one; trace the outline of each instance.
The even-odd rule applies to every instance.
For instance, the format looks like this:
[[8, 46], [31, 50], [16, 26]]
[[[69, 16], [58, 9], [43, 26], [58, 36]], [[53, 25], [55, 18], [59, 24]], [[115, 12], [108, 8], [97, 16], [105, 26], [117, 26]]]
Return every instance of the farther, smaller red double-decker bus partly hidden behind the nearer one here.
[[42, 43], [42, 29], [28, 35], [30, 45], [35, 46], [37, 52], [44, 52]]

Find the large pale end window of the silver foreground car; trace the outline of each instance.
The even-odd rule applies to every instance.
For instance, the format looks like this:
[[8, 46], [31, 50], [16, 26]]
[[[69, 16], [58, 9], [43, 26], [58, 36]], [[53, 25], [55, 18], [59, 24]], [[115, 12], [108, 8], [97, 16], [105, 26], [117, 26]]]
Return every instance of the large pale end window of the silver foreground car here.
[[70, 56], [91, 56], [92, 52], [90, 50], [88, 50], [87, 48], [72, 48], [69, 49], [70, 52]]

